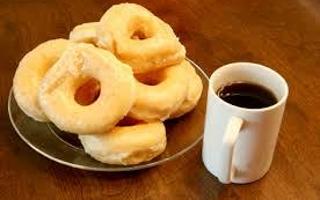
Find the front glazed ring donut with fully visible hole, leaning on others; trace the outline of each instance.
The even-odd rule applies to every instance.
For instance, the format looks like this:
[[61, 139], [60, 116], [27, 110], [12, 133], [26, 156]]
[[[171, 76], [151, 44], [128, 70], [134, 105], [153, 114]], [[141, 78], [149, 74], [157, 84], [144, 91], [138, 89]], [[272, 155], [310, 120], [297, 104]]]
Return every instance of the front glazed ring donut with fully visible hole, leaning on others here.
[[[90, 105], [75, 100], [77, 88], [94, 78], [100, 82], [99, 97]], [[91, 44], [72, 44], [45, 75], [39, 90], [40, 105], [61, 130], [98, 134], [113, 128], [135, 100], [131, 68], [110, 52]]]

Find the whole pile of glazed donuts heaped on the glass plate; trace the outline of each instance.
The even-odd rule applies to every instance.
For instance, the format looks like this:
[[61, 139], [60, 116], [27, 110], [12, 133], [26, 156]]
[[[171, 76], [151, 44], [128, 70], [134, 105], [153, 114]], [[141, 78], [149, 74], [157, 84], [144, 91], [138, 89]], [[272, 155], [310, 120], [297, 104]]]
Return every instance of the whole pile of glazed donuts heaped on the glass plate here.
[[27, 53], [13, 92], [28, 116], [78, 134], [96, 160], [138, 164], [165, 150], [163, 121], [191, 111], [201, 96], [185, 54], [172, 28], [150, 11], [114, 5], [69, 39]]

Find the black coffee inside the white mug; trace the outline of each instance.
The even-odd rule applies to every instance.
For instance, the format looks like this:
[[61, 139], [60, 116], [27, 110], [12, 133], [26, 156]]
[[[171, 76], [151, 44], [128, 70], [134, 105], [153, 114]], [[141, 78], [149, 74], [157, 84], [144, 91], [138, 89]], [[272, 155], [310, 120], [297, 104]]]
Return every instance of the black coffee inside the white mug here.
[[224, 101], [243, 108], [265, 108], [277, 103], [277, 98], [269, 89], [248, 82], [222, 86], [217, 94]]

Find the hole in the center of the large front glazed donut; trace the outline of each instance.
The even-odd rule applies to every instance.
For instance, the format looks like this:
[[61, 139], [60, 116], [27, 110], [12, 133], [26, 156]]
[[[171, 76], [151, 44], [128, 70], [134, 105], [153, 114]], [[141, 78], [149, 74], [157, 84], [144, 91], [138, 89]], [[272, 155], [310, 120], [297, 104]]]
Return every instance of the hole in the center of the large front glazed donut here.
[[89, 78], [77, 88], [74, 99], [78, 104], [88, 106], [93, 104], [99, 96], [100, 82], [94, 78]]

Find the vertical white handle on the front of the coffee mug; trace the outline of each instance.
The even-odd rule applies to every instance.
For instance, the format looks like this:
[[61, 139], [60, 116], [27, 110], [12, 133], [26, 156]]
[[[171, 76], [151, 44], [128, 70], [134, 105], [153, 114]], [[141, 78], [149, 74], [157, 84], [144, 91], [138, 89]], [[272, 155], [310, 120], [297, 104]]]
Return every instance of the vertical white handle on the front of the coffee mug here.
[[219, 180], [222, 183], [231, 183], [234, 175], [235, 167], [233, 166], [234, 147], [238, 140], [239, 133], [243, 124], [243, 119], [239, 117], [231, 117], [226, 132], [223, 137], [222, 146], [222, 174]]

